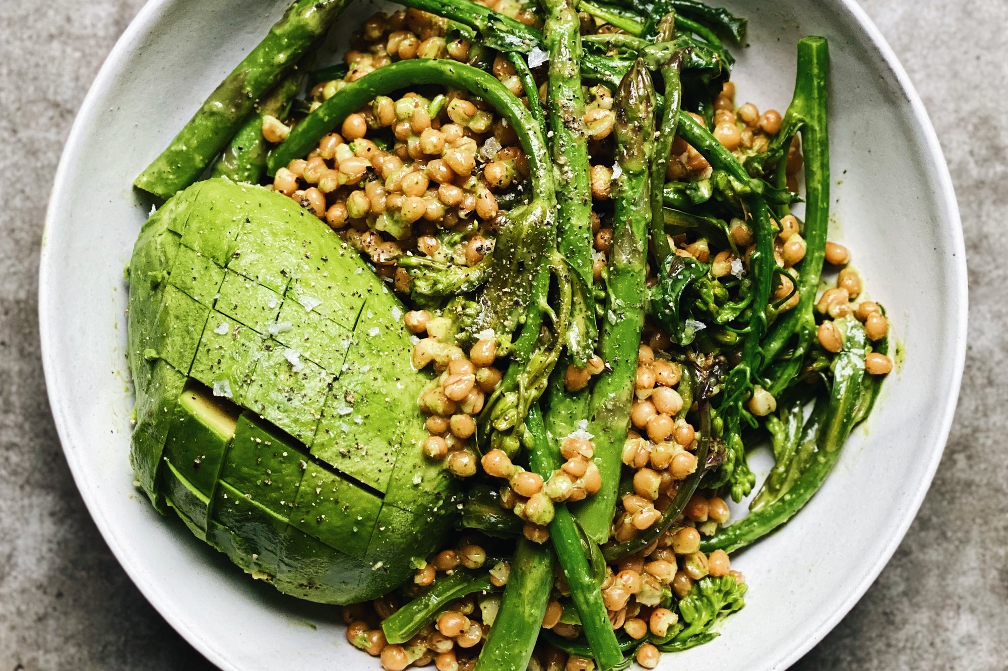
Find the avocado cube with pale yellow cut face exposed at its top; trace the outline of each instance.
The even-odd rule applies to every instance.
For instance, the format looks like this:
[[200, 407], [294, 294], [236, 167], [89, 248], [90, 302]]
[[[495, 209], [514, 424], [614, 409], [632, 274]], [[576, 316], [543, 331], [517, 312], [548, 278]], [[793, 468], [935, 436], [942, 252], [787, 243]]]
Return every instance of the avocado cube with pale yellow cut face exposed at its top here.
[[203, 385], [190, 384], [178, 397], [178, 412], [164, 443], [164, 458], [205, 497], [214, 493], [240, 412], [238, 406], [214, 396]]

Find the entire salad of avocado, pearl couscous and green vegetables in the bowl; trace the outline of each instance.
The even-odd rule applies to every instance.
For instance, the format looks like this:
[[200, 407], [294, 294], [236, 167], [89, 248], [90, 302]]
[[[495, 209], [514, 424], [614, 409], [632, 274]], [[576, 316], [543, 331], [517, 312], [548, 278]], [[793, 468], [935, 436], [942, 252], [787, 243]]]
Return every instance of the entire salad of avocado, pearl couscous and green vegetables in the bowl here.
[[409, 0], [316, 65], [348, 6], [294, 2], [136, 179], [140, 488], [389, 671], [730, 636], [730, 553], [892, 368], [829, 240], [827, 40], [760, 113], [695, 0]]

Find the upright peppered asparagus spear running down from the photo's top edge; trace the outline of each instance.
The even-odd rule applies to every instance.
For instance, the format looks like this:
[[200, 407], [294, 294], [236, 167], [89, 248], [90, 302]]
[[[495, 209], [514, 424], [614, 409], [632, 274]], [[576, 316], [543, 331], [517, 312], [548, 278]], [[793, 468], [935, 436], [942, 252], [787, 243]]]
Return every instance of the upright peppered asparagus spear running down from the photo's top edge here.
[[[559, 206], [559, 252], [571, 263], [581, 290], [592, 286], [592, 193], [589, 185], [585, 98], [581, 86], [581, 23], [570, 0], [543, 0], [543, 36], [549, 49], [549, 127]], [[568, 330], [568, 350], [584, 366], [595, 348], [595, 313], [581, 309]]]

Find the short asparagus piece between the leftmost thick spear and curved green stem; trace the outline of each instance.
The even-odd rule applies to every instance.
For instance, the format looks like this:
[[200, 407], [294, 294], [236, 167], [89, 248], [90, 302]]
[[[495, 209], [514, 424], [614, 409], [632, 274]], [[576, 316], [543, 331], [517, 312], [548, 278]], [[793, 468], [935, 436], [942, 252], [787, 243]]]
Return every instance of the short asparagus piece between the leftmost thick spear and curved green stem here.
[[283, 118], [290, 109], [291, 101], [300, 93], [303, 79], [295, 70], [276, 85], [262, 104], [256, 106], [255, 113], [242, 125], [214, 163], [213, 176], [252, 184], [262, 180], [266, 174], [266, 154], [269, 151], [262, 136], [262, 119], [267, 115]]

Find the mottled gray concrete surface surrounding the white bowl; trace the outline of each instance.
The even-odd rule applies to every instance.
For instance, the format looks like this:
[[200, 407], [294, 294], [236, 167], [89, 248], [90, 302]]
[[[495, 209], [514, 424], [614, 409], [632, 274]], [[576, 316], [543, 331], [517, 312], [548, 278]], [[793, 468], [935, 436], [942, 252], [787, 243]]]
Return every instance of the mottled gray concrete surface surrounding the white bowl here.
[[[0, 671], [203, 669], [91, 522], [38, 354], [46, 197], [74, 115], [142, 0], [0, 0]], [[930, 111], [959, 193], [970, 350], [934, 485], [889, 566], [795, 669], [1008, 668], [1008, 3], [865, 0]], [[942, 384], [935, 380], [934, 384]]]

